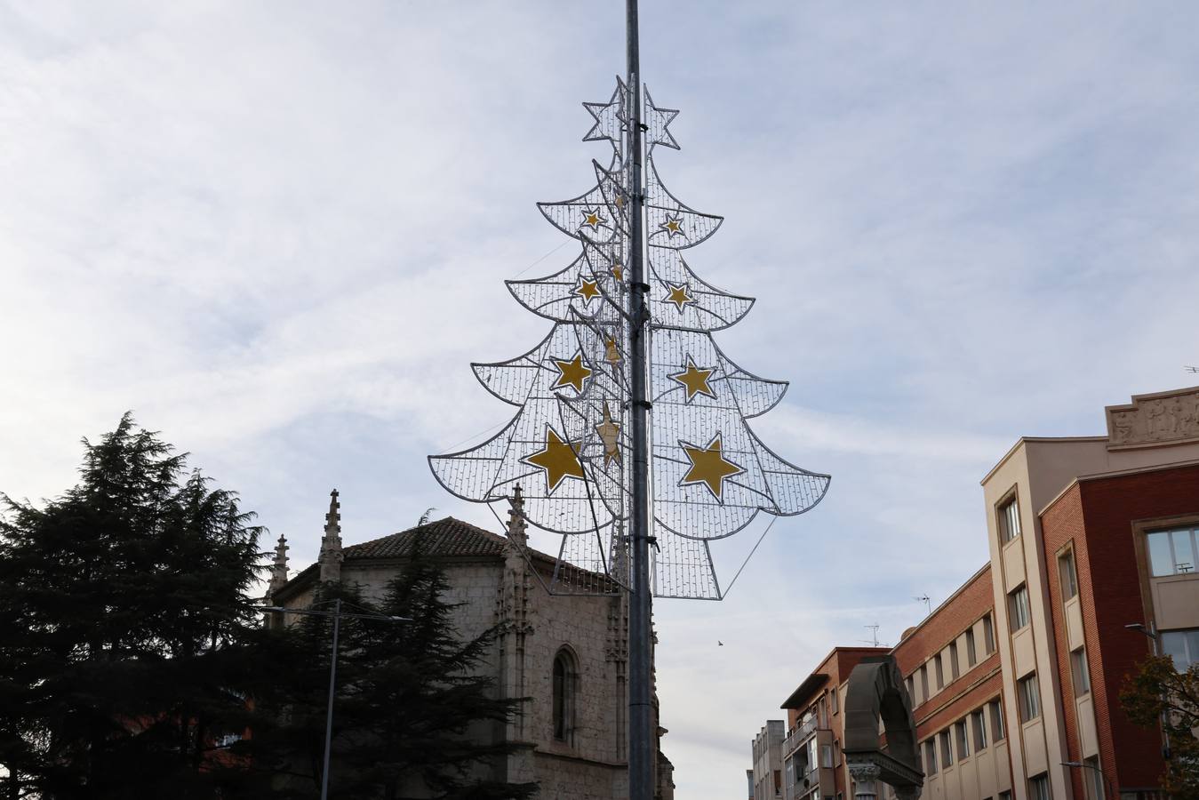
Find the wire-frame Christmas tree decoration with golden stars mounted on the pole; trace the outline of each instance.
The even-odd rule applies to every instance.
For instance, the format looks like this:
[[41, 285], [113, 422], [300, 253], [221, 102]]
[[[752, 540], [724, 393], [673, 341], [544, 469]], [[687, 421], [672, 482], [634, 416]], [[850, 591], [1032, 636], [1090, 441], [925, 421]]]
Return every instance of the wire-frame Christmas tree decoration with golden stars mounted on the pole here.
[[[584, 140], [608, 142], [611, 157], [592, 162], [596, 184], [586, 193], [540, 204], [550, 223], [579, 241], [578, 257], [554, 275], [507, 284], [553, 329], [517, 359], [474, 365], [478, 380], [519, 411], [482, 445], [429, 463], [442, 486], [466, 500], [505, 503], [522, 488], [528, 521], [561, 535], [552, 590], [628, 585], [628, 356], [632, 327], [647, 312], [652, 590], [719, 599], [710, 542], [742, 530], [759, 511], [807, 511], [824, 497], [829, 476], [783, 461], [749, 428], [747, 420], [778, 403], [787, 384], [742, 369], [716, 344], [713, 331], [737, 323], [753, 300], [705, 283], [683, 260], [682, 251], [716, 233], [722, 219], [680, 203], [658, 176], [655, 154], [679, 149], [669, 131], [677, 112], [655, 106], [647, 89], [644, 186], [637, 187], [641, 160], [634, 169], [626, 157], [634, 142], [626, 114], [633, 96], [617, 78], [607, 103], [584, 103], [595, 119]], [[644, 209], [645, 267], [633, 291], [627, 265], [637, 209]], [[643, 295], [644, 307], [634, 307]], [[603, 577], [598, 584], [596, 576]]]

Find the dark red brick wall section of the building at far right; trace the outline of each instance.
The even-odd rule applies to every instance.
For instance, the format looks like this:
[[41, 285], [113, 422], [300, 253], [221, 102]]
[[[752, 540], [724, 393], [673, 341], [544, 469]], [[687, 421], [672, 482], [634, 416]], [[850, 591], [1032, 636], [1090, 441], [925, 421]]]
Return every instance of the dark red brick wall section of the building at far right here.
[[[1109, 777], [1126, 787], [1158, 786], [1162, 772], [1159, 734], [1132, 724], [1119, 697], [1126, 675], [1145, 657], [1150, 644], [1144, 634], [1125, 628], [1144, 620], [1132, 527], [1140, 519], [1186, 513], [1199, 513], [1199, 467], [1083, 481], [1042, 516], [1059, 673], [1068, 670], [1070, 663], [1056, 551], [1073, 539], [1099, 757], [1116, 768]], [[1062, 679], [1066, 691], [1070, 678], [1064, 674]], [[1073, 726], [1072, 703], [1066, 705], [1067, 726]], [[1077, 734], [1068, 732], [1073, 758]]]

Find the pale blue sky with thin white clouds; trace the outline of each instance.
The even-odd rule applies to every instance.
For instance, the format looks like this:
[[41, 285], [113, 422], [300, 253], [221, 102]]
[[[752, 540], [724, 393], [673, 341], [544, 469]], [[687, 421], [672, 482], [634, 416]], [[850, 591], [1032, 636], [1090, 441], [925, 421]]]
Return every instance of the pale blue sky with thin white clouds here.
[[[424, 456], [511, 417], [469, 362], [548, 330], [502, 281], [574, 257], [534, 203], [590, 186], [622, 6], [0, 1], [0, 491], [59, 494], [133, 409], [293, 566], [333, 487], [347, 543], [494, 527]], [[727, 217], [688, 261], [759, 297], [721, 347], [833, 475], [727, 601], [656, 608], [677, 794], [717, 800], [832, 645], [984, 563], [1018, 437], [1199, 383], [1199, 4], [644, 6], [659, 170]]]

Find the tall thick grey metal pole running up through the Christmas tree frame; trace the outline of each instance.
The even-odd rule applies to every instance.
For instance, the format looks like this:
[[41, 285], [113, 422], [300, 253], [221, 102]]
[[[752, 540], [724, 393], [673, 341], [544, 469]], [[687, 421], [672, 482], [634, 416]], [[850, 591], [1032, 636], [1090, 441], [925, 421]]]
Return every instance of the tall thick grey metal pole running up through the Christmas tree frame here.
[[629, 247], [629, 366], [632, 371], [632, 565], [633, 591], [628, 601], [628, 796], [629, 800], [653, 798], [653, 736], [650, 729], [651, 597], [650, 541], [650, 402], [646, 386], [649, 353], [649, 311], [645, 305], [644, 217], [645, 193], [641, 185], [641, 78], [637, 36], [637, 0], [627, 0], [626, 28], [628, 44], [628, 193], [632, 213], [628, 225]]

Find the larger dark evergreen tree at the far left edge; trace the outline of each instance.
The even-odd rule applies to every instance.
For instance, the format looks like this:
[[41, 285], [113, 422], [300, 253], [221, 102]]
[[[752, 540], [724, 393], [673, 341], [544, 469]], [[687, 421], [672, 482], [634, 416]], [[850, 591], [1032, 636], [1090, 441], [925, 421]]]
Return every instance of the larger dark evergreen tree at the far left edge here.
[[0, 495], [7, 796], [211, 798], [248, 788], [253, 515], [126, 414], [79, 482]]

